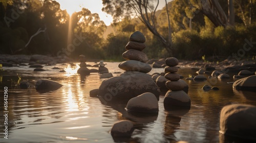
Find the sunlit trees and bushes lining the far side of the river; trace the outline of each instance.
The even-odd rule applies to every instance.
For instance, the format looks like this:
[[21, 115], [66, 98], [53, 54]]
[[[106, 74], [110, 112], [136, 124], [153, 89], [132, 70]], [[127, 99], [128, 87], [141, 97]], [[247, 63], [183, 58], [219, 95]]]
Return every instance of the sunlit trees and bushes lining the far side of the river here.
[[[255, 1], [234, 1], [234, 25], [216, 26], [192, 0], [168, 3], [173, 55], [185, 60], [220, 61], [255, 58]], [[228, 15], [227, 1], [220, 2]], [[166, 39], [166, 9], [156, 12], [157, 29]], [[76, 58], [123, 60], [130, 35], [146, 37], [148, 58], [169, 56], [164, 45], [138, 18], [112, 23], [114, 32], [104, 39], [106, 26], [98, 14], [83, 8], [71, 17], [56, 1], [0, 1], [0, 54], [65, 55]], [[255, 41], [255, 42], [254, 42]]]

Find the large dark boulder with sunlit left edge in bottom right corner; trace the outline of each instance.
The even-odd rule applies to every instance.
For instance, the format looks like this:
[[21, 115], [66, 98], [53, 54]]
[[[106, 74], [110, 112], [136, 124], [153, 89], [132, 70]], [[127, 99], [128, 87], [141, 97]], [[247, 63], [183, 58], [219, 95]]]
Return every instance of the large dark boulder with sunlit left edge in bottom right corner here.
[[246, 104], [224, 106], [220, 115], [220, 133], [225, 136], [254, 140], [252, 142], [255, 142], [255, 121], [256, 106]]

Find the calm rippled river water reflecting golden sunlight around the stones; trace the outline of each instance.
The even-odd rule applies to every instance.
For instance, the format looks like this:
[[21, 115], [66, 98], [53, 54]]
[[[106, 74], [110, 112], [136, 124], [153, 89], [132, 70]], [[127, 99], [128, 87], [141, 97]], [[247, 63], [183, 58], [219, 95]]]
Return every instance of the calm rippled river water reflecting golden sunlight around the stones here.
[[[106, 62], [111, 73], [123, 70], [119, 62]], [[94, 63], [89, 64], [93, 65]], [[65, 69], [60, 73], [57, 66]], [[163, 107], [162, 91], [157, 115], [134, 115], [124, 110], [124, 104], [103, 105], [98, 98], [91, 98], [89, 92], [100, 86], [104, 79], [98, 73], [87, 77], [76, 74], [78, 66], [45, 66], [47, 71], [33, 71], [28, 66], [4, 67], [1, 94], [5, 84], [8, 91], [8, 139], [4, 139], [4, 117], [1, 116], [0, 142], [222, 142], [219, 139], [219, 118], [223, 106], [234, 103], [256, 105], [255, 92], [233, 91], [230, 80], [218, 79], [205, 82], [186, 81], [191, 98], [189, 110], [166, 111]], [[90, 67], [89, 67], [90, 68]], [[149, 74], [163, 72], [163, 68], [153, 68]], [[178, 73], [185, 78], [196, 75], [196, 70], [180, 68]], [[15, 77], [35, 84], [40, 78], [57, 81], [63, 86], [55, 91], [40, 93], [35, 88], [15, 88]], [[118, 76], [119, 74], [113, 74]], [[232, 76], [232, 75], [231, 75]], [[13, 79], [13, 82], [7, 81]], [[9, 82], [9, 83], [8, 83]], [[12, 84], [12, 88], [10, 87]], [[204, 92], [203, 85], [219, 87], [219, 91]], [[2, 98], [3, 99], [3, 98]], [[3, 100], [0, 112], [3, 113]], [[135, 123], [135, 131], [129, 139], [113, 139], [110, 130], [119, 120]]]

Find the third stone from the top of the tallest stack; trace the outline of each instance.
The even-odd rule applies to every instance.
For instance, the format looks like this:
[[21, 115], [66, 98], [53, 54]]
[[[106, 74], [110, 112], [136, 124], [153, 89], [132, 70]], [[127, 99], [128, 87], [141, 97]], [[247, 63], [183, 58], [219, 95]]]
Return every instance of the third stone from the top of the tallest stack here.
[[141, 62], [147, 61], [147, 56], [145, 53], [134, 49], [125, 51], [122, 56], [126, 60], [136, 60]]

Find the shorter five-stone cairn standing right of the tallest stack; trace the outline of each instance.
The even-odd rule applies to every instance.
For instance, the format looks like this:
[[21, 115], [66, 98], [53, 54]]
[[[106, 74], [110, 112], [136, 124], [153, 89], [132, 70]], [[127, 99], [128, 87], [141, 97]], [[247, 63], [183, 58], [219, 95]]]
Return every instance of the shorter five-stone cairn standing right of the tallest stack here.
[[186, 84], [180, 80], [180, 75], [177, 74], [179, 64], [178, 59], [171, 57], [165, 60], [166, 66], [164, 77], [168, 79], [165, 83], [169, 89], [164, 97], [164, 108], [172, 109], [173, 107], [188, 107], [190, 108], [190, 98], [186, 92], [183, 91]]

